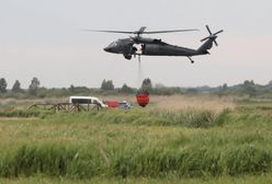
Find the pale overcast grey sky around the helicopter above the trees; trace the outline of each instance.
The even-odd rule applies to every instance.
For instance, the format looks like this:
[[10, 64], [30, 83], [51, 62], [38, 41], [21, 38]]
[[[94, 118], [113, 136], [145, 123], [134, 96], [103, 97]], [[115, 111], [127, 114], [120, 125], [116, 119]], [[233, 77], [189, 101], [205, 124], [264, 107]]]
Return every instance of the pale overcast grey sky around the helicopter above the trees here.
[[[272, 80], [271, 0], [0, 0], [0, 78], [8, 88], [19, 80], [27, 88], [33, 77], [46, 88], [99, 88], [103, 79], [115, 87], [138, 88], [150, 78], [168, 87], [217, 87], [245, 80]], [[197, 48], [218, 35], [212, 55], [143, 56], [126, 60], [103, 50], [128, 35], [90, 30], [147, 31], [199, 28], [200, 32], [152, 35], [169, 44]]]

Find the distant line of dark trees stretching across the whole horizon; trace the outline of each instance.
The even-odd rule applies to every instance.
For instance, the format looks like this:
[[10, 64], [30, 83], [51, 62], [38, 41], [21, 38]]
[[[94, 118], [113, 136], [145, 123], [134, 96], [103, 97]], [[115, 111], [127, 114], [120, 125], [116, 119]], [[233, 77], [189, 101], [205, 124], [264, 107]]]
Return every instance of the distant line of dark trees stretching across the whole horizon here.
[[46, 89], [41, 87], [39, 80], [34, 77], [27, 89], [22, 89], [21, 82], [15, 80], [11, 89], [7, 89], [8, 83], [4, 78], [0, 78], [0, 97], [59, 97], [68, 95], [113, 95], [113, 94], [136, 94], [138, 91], [147, 91], [150, 94], [171, 95], [171, 94], [203, 94], [211, 93], [217, 95], [249, 95], [249, 96], [267, 96], [272, 97], [272, 81], [265, 85], [257, 84], [253, 80], [246, 80], [240, 84], [228, 87], [227, 83], [223, 85], [211, 88], [207, 85], [196, 88], [181, 88], [181, 87], [165, 87], [163, 84], [154, 84], [147, 78], [143, 80], [139, 89], [132, 88], [124, 83], [121, 88], [115, 88], [112, 80], [104, 79], [100, 88], [75, 87], [60, 89]]

